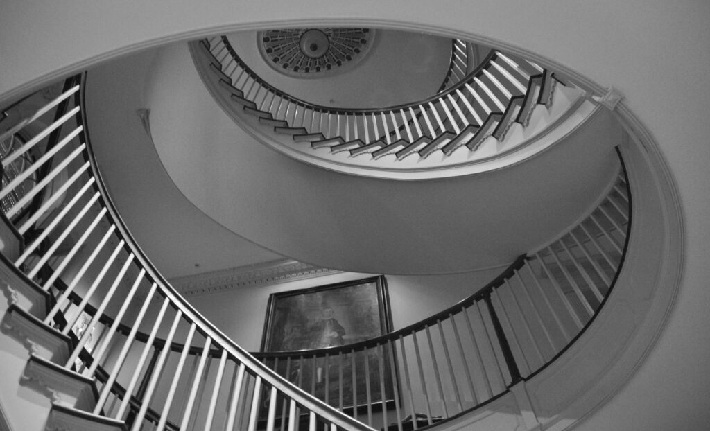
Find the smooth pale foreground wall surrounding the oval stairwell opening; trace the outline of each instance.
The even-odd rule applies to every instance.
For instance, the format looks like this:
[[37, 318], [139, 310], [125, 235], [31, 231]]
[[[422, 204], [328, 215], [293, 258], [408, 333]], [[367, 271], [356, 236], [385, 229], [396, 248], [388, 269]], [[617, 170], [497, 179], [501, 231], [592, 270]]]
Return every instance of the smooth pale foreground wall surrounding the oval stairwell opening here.
[[[648, 347], [648, 359], [581, 428], [706, 427], [710, 374], [701, 371], [710, 359], [710, 345], [698, 340], [704, 339], [710, 325], [706, 313], [710, 200], [705, 186], [710, 183], [706, 167], [710, 122], [704, 119], [710, 103], [706, 77], [710, 52], [704, 43], [710, 40], [706, 25], [710, 4], [688, 1], [670, 8], [660, 0], [503, 1], [447, 4], [447, 13], [441, 13], [441, 4], [427, 1], [313, 2], [312, 6], [320, 8], [322, 23], [347, 16], [353, 25], [357, 20], [381, 20], [408, 28], [436, 28], [448, 36], [486, 35], [477, 39], [509, 50], [527, 48], [545, 65], [583, 72], [590, 78], [586, 83], [596, 90], [613, 85], [626, 96], [617, 111], [646, 138], [648, 147], [641, 151], [657, 173], [658, 190], [682, 211], [682, 220], [674, 212], [676, 207], [664, 214], [672, 219], [666, 224], [667, 234], [675, 241], [668, 256], [681, 259], [682, 279], [671, 279], [667, 286], [673, 289], [679, 283], [679, 293], [665, 331]], [[97, 18], [103, 16], [111, 19]], [[13, 2], [4, 6], [0, 20], [0, 99], [139, 46], [236, 31], [245, 24], [248, 28], [253, 23], [275, 25], [276, 20], [302, 25], [316, 21], [310, 8], [288, 2], [264, 8], [215, 1], [204, 8], [167, 0], [52, 2], [42, 8]], [[677, 261], [669, 266], [680, 270]]]

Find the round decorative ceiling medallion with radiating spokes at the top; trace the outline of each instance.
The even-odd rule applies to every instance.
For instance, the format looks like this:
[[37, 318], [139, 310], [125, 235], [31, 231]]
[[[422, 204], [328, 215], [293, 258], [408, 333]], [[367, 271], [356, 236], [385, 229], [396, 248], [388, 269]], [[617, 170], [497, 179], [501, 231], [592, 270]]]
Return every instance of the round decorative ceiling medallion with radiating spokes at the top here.
[[283, 28], [258, 33], [261, 55], [279, 72], [297, 77], [352, 67], [372, 45], [371, 28]]

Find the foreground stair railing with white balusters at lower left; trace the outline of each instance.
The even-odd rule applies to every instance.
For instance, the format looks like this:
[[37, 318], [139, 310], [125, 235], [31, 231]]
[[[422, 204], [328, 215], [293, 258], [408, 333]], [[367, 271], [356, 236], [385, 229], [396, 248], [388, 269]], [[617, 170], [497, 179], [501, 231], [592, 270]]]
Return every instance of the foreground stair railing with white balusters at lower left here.
[[[131, 430], [163, 430], [168, 422], [180, 429], [226, 425], [229, 430], [253, 430], [260, 420], [268, 429], [291, 430], [305, 422], [310, 429], [368, 430], [253, 359], [155, 271], [124, 227], [96, 170], [81, 87], [82, 77], [72, 77], [62, 95], [38, 114], [4, 123], [0, 142], [15, 133], [30, 133], [30, 124], [40, 130], [4, 156], [4, 168], [31, 151], [40, 156], [23, 165], [0, 197], [16, 191], [23, 175], [40, 173], [38, 182], [5, 214], [28, 240], [12, 264], [36, 289], [58, 294], [43, 318], [45, 324], [67, 336], [89, 303], [96, 310], [85, 327], [96, 327], [106, 310], [116, 312], [100, 337], [92, 330], [80, 332], [59, 364], [67, 373], [94, 379], [98, 398], [92, 413], [124, 420]], [[42, 124], [49, 126], [37, 127]], [[11, 216], [26, 206], [33, 210], [21, 218]], [[56, 290], [60, 280], [67, 280], [63, 291]], [[81, 293], [76, 305], [70, 301], [73, 293]], [[152, 302], [159, 310], [151, 308]], [[121, 322], [131, 327], [129, 334], [117, 330]], [[136, 337], [142, 327], [147, 328], [144, 342]], [[156, 342], [158, 335], [165, 338], [163, 344]], [[89, 337], [97, 340], [87, 356]], [[187, 347], [176, 356], [162, 347], [173, 342]], [[186, 361], [193, 344], [200, 346], [200, 354], [189, 369]], [[210, 352], [219, 356], [216, 374], [207, 372]], [[277, 405], [286, 406], [283, 414]]]

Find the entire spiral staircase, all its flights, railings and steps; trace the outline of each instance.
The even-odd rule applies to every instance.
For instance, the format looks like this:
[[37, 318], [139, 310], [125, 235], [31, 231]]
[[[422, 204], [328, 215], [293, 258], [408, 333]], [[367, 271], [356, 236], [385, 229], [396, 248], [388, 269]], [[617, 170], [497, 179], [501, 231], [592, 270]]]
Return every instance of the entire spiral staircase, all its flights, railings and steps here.
[[[534, 111], [554, 105], [556, 85], [579, 89], [579, 102], [565, 111], [585, 103], [613, 110], [618, 103], [614, 92], [495, 51], [481, 67], [447, 73], [432, 99], [370, 111], [327, 109], [258, 80], [225, 41], [191, 45], [222, 109], [282, 153], [319, 151], [317, 158], [303, 156], [307, 163], [325, 160], [322, 166], [337, 170], [344, 163], [333, 156], [347, 153], [359, 161], [342, 172], [357, 175], [364, 163], [383, 160], [393, 172], [397, 163], [433, 154], [447, 160], [466, 151], [471, 158], [486, 140], [502, 143], [511, 127], [525, 129]], [[456, 64], [452, 55], [449, 70]], [[4, 426], [562, 428], [587, 414], [567, 417], [569, 409], [589, 411], [618, 387], [609, 381], [628, 373], [623, 361], [643, 355], [644, 339], [655, 337], [662, 322], [662, 300], [672, 300], [655, 290], [672, 271], [648, 271], [654, 259], [669, 265], [668, 240], [640, 234], [658, 227], [653, 208], [664, 198], [643, 186], [655, 178], [655, 165], [643, 156], [643, 139], [631, 143], [639, 132], [628, 129], [616, 149], [615, 175], [586, 212], [542, 246], [521, 250], [465, 300], [366, 342], [249, 354], [170, 286], [121, 220], [89, 139], [86, 76], [64, 80], [48, 104], [38, 103], [42, 92], [7, 98], [0, 123]], [[507, 144], [481, 159], [528, 146]], [[437, 169], [428, 167], [427, 175]], [[656, 299], [649, 302], [649, 295]], [[155, 304], [158, 312], [148, 312]], [[316, 369], [327, 372], [320, 378]], [[363, 379], [364, 391], [356, 384]]]

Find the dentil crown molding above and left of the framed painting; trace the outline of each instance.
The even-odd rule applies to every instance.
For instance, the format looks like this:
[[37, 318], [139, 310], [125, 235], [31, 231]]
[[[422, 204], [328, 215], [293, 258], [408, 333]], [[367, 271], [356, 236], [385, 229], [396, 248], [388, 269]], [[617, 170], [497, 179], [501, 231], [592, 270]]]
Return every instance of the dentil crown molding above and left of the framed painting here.
[[222, 293], [237, 288], [273, 285], [342, 273], [293, 260], [270, 261], [184, 277], [172, 278], [170, 284], [183, 296]]

